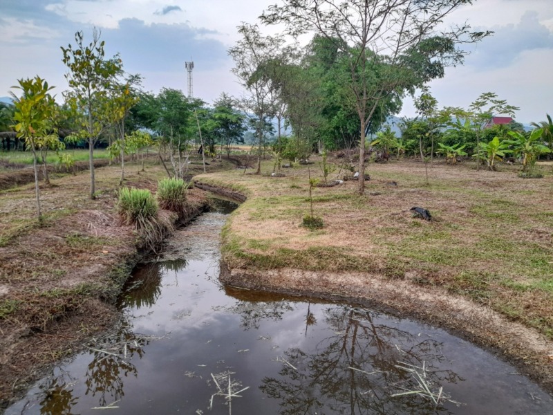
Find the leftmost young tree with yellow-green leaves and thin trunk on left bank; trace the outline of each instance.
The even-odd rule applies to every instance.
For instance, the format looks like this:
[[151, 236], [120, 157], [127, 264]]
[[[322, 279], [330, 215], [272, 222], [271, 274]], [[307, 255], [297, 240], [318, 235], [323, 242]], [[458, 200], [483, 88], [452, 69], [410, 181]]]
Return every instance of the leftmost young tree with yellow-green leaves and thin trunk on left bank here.
[[[40, 208], [39, 172], [37, 167], [37, 150], [50, 140], [56, 105], [50, 95], [53, 86], [48, 86], [46, 80], [38, 75], [31, 79], [18, 80], [21, 98], [15, 100], [14, 129], [19, 138], [25, 140], [26, 146], [32, 151], [32, 167], [35, 169], [35, 194], [37, 196], [37, 214], [42, 221]], [[55, 136], [57, 140], [57, 136]]]

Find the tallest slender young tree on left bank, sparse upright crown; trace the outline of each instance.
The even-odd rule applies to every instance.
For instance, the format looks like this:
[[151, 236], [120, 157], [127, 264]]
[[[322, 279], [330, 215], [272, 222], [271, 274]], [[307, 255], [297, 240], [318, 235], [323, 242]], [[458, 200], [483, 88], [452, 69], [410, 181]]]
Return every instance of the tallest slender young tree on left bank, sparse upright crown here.
[[100, 31], [93, 29], [92, 42], [84, 44], [82, 32], [75, 33], [75, 46], [62, 46], [63, 62], [68, 67], [66, 79], [71, 92], [69, 97], [81, 116], [82, 134], [88, 140], [88, 162], [91, 175], [90, 196], [95, 198], [94, 145], [102, 132], [109, 127], [109, 91], [115, 77], [122, 71], [119, 55], [105, 59], [104, 41]]

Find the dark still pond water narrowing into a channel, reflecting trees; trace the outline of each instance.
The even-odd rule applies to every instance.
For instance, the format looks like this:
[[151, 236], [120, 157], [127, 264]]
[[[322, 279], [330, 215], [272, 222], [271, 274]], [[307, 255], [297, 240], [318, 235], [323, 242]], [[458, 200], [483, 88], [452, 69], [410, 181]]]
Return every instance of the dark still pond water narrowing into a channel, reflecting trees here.
[[6, 414], [553, 414], [514, 367], [440, 329], [223, 288], [226, 218], [203, 215], [138, 267], [115, 333]]

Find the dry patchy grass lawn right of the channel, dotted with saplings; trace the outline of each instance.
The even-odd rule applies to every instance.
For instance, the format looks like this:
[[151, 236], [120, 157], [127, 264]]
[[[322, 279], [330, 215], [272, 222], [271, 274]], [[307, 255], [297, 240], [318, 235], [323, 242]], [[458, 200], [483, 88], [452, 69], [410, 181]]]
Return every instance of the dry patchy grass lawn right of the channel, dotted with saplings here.
[[[553, 340], [551, 170], [532, 180], [471, 167], [435, 164], [427, 185], [420, 163], [371, 164], [364, 196], [353, 181], [315, 188], [324, 228], [314, 231], [301, 226], [310, 212], [304, 166], [278, 178], [236, 171], [197, 179], [248, 196], [224, 230], [231, 268], [360, 271], [440, 287]], [[321, 176], [317, 164], [314, 173]], [[413, 206], [433, 221], [413, 217]]]

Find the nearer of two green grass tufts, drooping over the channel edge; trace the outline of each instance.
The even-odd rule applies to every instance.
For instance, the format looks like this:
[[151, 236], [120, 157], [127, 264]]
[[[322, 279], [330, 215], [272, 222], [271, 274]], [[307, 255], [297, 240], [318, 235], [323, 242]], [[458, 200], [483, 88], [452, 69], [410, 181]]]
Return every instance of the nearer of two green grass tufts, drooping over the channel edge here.
[[158, 209], [158, 202], [149, 190], [123, 187], [119, 192], [118, 211], [123, 222], [135, 225], [140, 245], [154, 252], [173, 228], [169, 219], [160, 218]]

